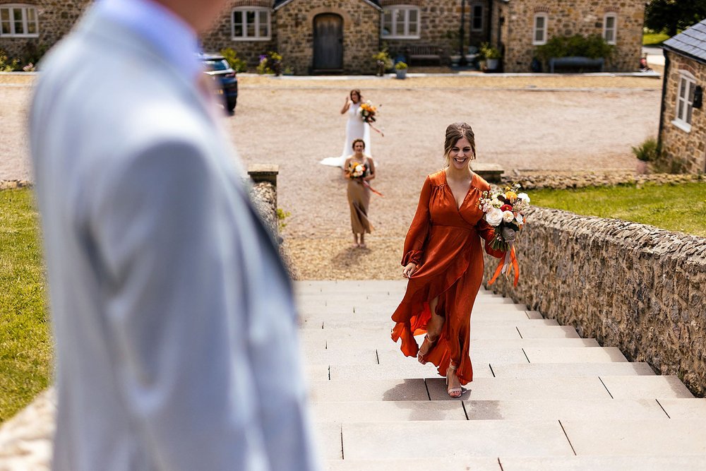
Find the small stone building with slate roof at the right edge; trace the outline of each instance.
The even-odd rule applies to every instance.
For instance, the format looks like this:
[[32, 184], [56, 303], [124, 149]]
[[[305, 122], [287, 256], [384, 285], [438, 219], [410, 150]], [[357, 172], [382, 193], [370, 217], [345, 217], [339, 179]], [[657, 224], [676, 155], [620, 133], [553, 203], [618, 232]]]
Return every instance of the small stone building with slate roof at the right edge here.
[[660, 148], [690, 173], [706, 173], [706, 20], [662, 44], [664, 88], [659, 117]]

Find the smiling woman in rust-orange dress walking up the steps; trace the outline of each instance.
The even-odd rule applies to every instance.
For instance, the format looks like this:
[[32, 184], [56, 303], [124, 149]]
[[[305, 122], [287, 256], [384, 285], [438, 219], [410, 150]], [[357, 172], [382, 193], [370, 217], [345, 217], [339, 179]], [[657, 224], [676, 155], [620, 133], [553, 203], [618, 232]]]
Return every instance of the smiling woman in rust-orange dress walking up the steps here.
[[[431, 362], [446, 376], [448, 395], [460, 398], [462, 384], [473, 379], [468, 351], [471, 311], [483, 276], [483, 249], [491, 249], [493, 228], [483, 219], [478, 201], [490, 185], [471, 171], [476, 158], [471, 126], [446, 129], [445, 168], [429, 175], [405, 239], [402, 275], [407, 292], [392, 318], [392, 338], [402, 339], [402, 352]], [[421, 347], [414, 335], [426, 332]]]

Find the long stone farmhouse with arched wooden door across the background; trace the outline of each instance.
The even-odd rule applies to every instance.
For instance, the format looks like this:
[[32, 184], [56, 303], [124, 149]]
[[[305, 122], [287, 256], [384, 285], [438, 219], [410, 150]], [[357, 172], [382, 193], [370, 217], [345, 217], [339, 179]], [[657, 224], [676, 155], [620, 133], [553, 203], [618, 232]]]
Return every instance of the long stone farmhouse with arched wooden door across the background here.
[[[0, 0], [0, 49], [43, 52], [90, 0]], [[504, 71], [527, 72], [534, 48], [553, 35], [600, 34], [616, 44], [607, 68], [639, 64], [644, 0], [229, 0], [203, 47], [234, 49], [251, 65], [276, 51], [295, 73], [372, 73], [388, 47], [413, 63], [448, 64], [468, 46], [501, 49]], [[459, 34], [463, 25], [463, 46]]]

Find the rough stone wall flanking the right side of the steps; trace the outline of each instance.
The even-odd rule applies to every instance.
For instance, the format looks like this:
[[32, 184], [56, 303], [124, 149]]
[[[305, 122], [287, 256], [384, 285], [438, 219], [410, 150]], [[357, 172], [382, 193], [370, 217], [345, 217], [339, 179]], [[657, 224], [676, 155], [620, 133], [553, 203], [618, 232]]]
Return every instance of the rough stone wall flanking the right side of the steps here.
[[706, 395], [706, 238], [533, 208], [517, 257], [517, 287], [486, 287]]

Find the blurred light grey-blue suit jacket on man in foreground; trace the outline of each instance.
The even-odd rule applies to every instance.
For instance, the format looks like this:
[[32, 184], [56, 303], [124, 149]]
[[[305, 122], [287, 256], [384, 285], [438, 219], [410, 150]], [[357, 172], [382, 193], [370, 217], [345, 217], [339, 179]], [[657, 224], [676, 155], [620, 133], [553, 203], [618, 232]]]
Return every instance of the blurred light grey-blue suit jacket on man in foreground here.
[[316, 468], [289, 279], [193, 83], [93, 13], [42, 70], [54, 469]]

